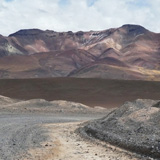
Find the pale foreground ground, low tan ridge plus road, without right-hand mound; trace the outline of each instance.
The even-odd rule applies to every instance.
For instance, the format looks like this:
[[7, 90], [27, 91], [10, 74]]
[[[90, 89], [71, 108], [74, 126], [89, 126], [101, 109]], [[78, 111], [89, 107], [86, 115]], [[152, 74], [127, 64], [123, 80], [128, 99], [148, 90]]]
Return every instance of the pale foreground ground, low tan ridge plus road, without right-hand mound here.
[[114, 109], [67, 101], [0, 96], [1, 160], [151, 159], [80, 134], [79, 127]]

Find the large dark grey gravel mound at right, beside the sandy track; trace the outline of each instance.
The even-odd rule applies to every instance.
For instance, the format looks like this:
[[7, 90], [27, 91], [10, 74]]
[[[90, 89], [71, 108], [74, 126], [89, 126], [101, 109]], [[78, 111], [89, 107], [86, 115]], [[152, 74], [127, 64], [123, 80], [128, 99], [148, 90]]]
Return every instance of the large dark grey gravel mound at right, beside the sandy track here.
[[127, 150], [160, 158], [160, 101], [126, 102], [80, 131]]

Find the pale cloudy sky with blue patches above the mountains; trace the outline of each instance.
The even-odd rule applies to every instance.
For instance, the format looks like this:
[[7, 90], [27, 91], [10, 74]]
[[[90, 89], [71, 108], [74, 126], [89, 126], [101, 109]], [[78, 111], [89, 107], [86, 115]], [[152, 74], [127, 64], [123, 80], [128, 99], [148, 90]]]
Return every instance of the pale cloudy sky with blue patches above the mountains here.
[[138, 24], [160, 33], [160, 0], [0, 0], [0, 34], [89, 31]]

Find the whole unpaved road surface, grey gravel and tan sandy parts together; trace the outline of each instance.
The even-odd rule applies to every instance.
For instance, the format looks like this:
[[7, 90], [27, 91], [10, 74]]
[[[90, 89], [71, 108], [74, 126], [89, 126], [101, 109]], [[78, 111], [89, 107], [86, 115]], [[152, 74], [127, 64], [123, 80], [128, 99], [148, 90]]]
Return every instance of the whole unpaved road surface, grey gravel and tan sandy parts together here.
[[0, 159], [138, 160], [129, 152], [110, 145], [99, 146], [74, 133], [82, 121], [93, 118], [64, 115], [1, 115]]

